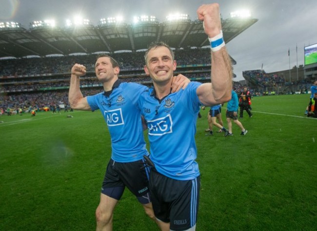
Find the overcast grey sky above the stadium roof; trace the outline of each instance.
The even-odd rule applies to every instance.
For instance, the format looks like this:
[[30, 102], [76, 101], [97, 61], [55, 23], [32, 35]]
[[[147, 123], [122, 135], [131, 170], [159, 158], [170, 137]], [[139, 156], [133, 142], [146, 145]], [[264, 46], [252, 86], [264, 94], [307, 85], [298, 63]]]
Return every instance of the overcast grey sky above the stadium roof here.
[[[304, 46], [317, 43], [316, 0], [0, 0], [0, 21], [20, 22], [29, 29], [34, 20], [66, 19], [80, 15], [98, 25], [99, 19], [123, 15], [153, 15], [159, 22], [172, 13], [197, 19], [202, 4], [218, 2], [223, 19], [230, 12], [247, 9], [258, 22], [226, 44], [234, 65], [236, 81], [242, 71], [261, 69], [267, 73], [304, 64]], [[288, 56], [290, 50], [290, 56]], [[177, 60], [177, 57], [176, 57]]]

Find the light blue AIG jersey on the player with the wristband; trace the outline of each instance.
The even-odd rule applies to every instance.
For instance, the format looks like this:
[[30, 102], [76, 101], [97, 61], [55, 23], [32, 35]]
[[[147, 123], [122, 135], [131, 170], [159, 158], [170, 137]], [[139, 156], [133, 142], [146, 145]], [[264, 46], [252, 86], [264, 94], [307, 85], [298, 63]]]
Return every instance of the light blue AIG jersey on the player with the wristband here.
[[190, 82], [158, 100], [153, 88], [139, 98], [147, 121], [150, 157], [157, 171], [176, 180], [191, 180], [199, 175], [196, 162], [196, 122], [201, 105], [196, 90], [201, 83]]

